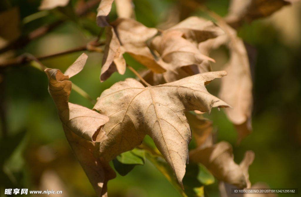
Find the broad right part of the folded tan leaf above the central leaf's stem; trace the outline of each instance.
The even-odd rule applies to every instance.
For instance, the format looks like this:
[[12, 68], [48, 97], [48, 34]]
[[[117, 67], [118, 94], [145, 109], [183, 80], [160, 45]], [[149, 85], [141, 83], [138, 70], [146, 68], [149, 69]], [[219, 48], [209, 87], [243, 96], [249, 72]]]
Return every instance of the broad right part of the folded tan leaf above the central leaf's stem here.
[[157, 34], [157, 29], [148, 28], [135, 20], [126, 18], [118, 18], [110, 25], [116, 30], [125, 52], [156, 73], [166, 71], [156, 62], [146, 45], [146, 41]]

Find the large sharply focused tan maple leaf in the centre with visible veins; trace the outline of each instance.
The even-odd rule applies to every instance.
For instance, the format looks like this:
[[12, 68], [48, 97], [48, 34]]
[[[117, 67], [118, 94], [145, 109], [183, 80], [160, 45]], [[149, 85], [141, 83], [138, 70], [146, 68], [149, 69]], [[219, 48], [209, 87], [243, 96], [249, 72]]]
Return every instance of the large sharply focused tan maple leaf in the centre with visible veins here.
[[103, 128], [108, 138], [96, 143], [95, 155], [110, 161], [141, 144], [147, 134], [182, 185], [191, 141], [184, 112], [210, 113], [213, 107], [229, 107], [205, 88], [209, 81], [226, 74], [225, 71], [208, 72], [148, 87], [132, 78], [115, 83], [101, 94], [94, 106], [110, 118]]

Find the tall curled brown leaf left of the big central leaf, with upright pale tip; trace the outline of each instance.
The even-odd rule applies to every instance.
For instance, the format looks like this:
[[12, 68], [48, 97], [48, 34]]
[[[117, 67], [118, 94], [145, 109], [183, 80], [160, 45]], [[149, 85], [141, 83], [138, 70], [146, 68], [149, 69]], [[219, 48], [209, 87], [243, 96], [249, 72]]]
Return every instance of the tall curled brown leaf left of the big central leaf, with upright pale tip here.
[[[83, 53], [67, 69], [67, 74], [73, 76], [78, 73], [83, 68], [87, 57]], [[93, 151], [94, 141], [107, 138], [101, 128], [109, 118], [91, 109], [68, 102], [72, 86], [68, 75], [51, 68], [47, 68], [45, 73], [48, 76], [49, 93], [57, 106], [67, 140], [97, 195], [106, 195], [107, 181], [114, 178], [116, 174], [103, 158], [95, 158]]]

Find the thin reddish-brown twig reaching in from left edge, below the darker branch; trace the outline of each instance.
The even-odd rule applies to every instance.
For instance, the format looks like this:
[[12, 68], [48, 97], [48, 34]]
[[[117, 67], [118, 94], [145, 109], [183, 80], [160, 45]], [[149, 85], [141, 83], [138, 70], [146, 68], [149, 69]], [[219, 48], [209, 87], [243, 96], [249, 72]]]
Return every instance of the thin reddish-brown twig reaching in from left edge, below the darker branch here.
[[50, 54], [50, 55], [45, 55], [45, 56], [39, 56], [39, 57], [35, 57], [31, 54], [28, 53], [24, 53], [14, 59], [10, 59], [6, 62], [0, 63], [0, 68], [5, 68], [5, 67], [9, 67], [9, 66], [14, 66], [14, 65], [19, 65], [19, 64], [24, 64], [27, 62], [30, 62], [31, 60], [37, 61], [39, 62], [39, 60], [42, 59], [47, 59], [50, 57], [56, 57], [56, 56], [61, 56], [61, 55], [65, 55], [65, 54], [70, 54], [70, 53], [74, 53], [74, 52], [79, 52], [79, 51], [97, 51], [97, 52], [103, 52], [103, 50], [101, 48], [99, 48], [99, 46], [104, 45], [105, 42], [95, 42], [92, 41], [86, 45], [80, 46], [80, 47], [76, 47], [70, 50], [65, 50], [65, 51], [61, 51], [58, 53], [54, 53], [54, 54]]

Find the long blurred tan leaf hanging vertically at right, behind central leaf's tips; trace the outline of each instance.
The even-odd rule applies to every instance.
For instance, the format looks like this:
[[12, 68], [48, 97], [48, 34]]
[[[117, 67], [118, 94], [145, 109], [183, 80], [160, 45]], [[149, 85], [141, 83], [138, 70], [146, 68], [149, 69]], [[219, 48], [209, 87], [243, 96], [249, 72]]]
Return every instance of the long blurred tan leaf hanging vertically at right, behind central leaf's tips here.
[[233, 109], [225, 109], [225, 112], [237, 129], [239, 143], [252, 130], [253, 84], [250, 64], [244, 42], [237, 37], [236, 31], [227, 24], [220, 26], [226, 34], [201, 42], [199, 49], [202, 53], [208, 54], [210, 49], [225, 44], [230, 50], [230, 59], [223, 68], [228, 72], [228, 76], [222, 78], [219, 96], [233, 107]]

